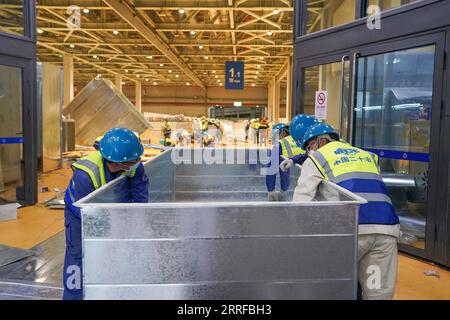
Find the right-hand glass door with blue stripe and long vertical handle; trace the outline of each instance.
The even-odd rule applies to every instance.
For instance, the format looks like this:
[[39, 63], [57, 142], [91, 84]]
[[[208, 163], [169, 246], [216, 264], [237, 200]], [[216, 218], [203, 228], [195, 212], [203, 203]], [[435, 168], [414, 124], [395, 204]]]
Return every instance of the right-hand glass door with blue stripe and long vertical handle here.
[[441, 107], [442, 35], [358, 50], [353, 57], [351, 141], [378, 154], [400, 217], [400, 248], [432, 257], [433, 190]]

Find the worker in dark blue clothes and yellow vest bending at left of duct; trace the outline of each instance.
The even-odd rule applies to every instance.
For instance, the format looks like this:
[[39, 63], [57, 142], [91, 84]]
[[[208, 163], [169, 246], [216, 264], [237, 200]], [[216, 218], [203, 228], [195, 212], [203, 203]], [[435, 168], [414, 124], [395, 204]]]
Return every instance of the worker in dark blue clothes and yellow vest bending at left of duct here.
[[99, 150], [72, 165], [73, 176], [64, 202], [66, 253], [63, 270], [65, 300], [83, 299], [81, 215], [74, 202], [111, 180], [125, 176], [124, 190], [116, 202], [148, 202], [149, 180], [141, 163], [144, 148], [133, 131], [125, 128], [109, 130], [99, 142]]

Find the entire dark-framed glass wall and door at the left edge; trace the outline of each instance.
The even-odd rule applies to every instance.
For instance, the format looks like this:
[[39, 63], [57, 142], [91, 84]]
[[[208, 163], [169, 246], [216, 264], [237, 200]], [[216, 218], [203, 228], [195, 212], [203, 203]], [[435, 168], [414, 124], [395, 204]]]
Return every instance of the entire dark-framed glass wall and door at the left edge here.
[[0, 0], [0, 206], [37, 201], [35, 1]]

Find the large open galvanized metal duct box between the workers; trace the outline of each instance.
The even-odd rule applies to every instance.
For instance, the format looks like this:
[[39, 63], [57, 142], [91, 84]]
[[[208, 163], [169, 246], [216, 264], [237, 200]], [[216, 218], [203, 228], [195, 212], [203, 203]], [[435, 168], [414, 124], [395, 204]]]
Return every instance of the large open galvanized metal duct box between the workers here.
[[[197, 179], [186, 175], [186, 165], [175, 168], [169, 161], [172, 152], [144, 166], [154, 190], [151, 201], [167, 203], [115, 203], [123, 178], [77, 203], [83, 220], [85, 298], [356, 298], [362, 198], [324, 182], [318, 199], [333, 190], [339, 201], [270, 203], [264, 201], [265, 191], [252, 186], [264, 185], [258, 181], [264, 177], [256, 174], [261, 165], [236, 165], [241, 170], [237, 176], [224, 169], [209, 176], [202, 172], [209, 174], [210, 165], [192, 164]], [[192, 190], [177, 190], [190, 182]], [[235, 191], [226, 191], [231, 186]]]

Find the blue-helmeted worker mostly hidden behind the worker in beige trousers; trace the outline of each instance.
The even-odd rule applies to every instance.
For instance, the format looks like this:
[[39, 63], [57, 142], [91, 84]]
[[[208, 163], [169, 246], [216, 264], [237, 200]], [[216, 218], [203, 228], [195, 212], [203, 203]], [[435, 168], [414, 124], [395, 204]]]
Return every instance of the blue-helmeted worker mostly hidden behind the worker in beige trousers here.
[[[302, 140], [305, 135], [306, 130], [316, 123], [319, 123], [319, 120], [313, 116], [309, 116], [306, 114], [296, 115], [289, 126], [290, 134], [292, 139], [295, 141], [297, 146], [302, 148]], [[302, 148], [304, 151], [304, 149]], [[283, 159], [280, 163], [280, 170], [283, 172], [287, 172], [289, 168], [291, 168], [295, 163], [302, 165], [303, 162], [307, 159], [306, 152], [301, 152], [295, 155], [294, 157], [289, 157]]]

